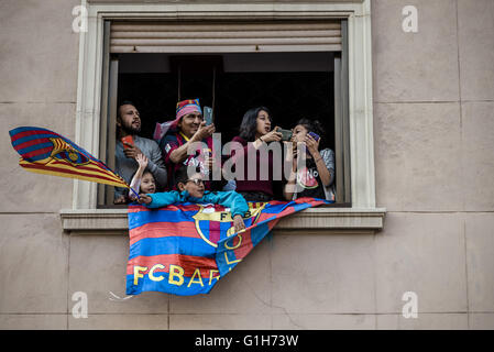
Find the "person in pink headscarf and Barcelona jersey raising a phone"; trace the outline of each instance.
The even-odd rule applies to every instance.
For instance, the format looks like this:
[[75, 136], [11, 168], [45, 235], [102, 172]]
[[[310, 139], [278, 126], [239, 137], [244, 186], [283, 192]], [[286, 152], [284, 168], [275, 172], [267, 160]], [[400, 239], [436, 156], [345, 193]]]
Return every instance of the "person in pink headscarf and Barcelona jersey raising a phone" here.
[[[163, 128], [162, 124], [161, 127]], [[168, 170], [168, 185], [175, 185], [175, 174], [182, 165], [198, 167], [206, 176], [212, 166], [212, 133], [215, 125], [206, 125], [199, 99], [183, 100], [177, 103], [176, 118], [166, 125], [164, 136], [160, 141], [165, 165]], [[204, 142], [207, 148], [188, 155], [188, 147], [195, 142]], [[210, 182], [205, 182], [210, 189]], [[172, 186], [176, 189], [176, 186]]]

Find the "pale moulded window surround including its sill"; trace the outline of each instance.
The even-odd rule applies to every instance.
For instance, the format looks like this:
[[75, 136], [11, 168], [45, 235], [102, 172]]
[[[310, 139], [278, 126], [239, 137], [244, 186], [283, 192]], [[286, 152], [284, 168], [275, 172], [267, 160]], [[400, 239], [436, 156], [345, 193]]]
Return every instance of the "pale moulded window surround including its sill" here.
[[[385, 209], [375, 208], [371, 0], [330, 3], [182, 3], [92, 4], [88, 31], [79, 37], [79, 68], [75, 142], [99, 154], [103, 65], [103, 22], [111, 19], [347, 19], [349, 50], [349, 125], [352, 208], [307, 209], [279, 229], [375, 231], [383, 227]], [[122, 230], [127, 210], [96, 209], [97, 184], [74, 180], [73, 209], [61, 210], [69, 231]], [[305, 219], [305, 220], [304, 220]], [[310, 221], [309, 221], [310, 219]], [[298, 224], [297, 224], [298, 223]], [[123, 227], [123, 228], [122, 228]]]

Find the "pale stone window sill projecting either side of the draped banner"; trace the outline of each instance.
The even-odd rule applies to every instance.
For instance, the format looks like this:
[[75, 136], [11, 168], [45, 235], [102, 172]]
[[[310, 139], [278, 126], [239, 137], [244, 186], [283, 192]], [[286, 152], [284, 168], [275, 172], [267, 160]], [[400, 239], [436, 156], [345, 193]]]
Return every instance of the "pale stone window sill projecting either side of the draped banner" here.
[[[282, 219], [274, 230], [373, 234], [383, 229], [385, 215], [383, 208], [310, 208]], [[129, 230], [127, 209], [63, 209], [61, 218], [64, 231], [72, 233], [124, 233]]]

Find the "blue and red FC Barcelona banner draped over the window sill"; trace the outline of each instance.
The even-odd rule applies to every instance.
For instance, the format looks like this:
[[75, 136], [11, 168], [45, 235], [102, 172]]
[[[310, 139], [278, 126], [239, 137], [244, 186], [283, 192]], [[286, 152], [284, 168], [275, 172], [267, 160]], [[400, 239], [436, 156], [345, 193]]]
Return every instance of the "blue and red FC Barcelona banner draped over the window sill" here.
[[245, 230], [234, 233], [230, 209], [180, 204], [158, 209], [129, 206], [127, 294], [208, 294], [270, 233], [279, 219], [330, 201], [249, 202]]

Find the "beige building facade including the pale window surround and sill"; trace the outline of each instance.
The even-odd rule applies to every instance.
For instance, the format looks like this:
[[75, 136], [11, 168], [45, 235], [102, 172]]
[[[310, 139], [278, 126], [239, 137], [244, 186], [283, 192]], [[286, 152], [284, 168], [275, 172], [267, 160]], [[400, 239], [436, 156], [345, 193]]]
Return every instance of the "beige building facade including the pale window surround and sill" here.
[[[493, 329], [493, 16], [492, 0], [2, 0], [0, 328]], [[350, 206], [284, 220], [207, 296], [128, 298], [124, 210], [26, 173], [7, 132], [101, 156], [105, 21], [198, 19], [347, 21], [330, 48], [347, 45]]]

